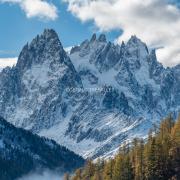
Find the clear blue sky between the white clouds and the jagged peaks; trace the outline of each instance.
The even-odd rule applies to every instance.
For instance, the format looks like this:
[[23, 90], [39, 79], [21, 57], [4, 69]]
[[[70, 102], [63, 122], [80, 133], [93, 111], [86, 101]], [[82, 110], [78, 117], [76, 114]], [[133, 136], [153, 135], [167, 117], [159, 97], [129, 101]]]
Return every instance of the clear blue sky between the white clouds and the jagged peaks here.
[[[53, 3], [58, 8], [58, 18], [55, 20], [27, 18], [17, 4], [0, 3], [0, 58], [18, 56], [23, 45], [42, 33], [44, 28], [55, 29], [64, 47], [79, 44], [90, 38], [92, 33], [99, 32], [93, 21], [82, 23], [68, 12], [66, 3], [60, 0]], [[106, 32], [109, 40], [119, 34], [119, 30]]]

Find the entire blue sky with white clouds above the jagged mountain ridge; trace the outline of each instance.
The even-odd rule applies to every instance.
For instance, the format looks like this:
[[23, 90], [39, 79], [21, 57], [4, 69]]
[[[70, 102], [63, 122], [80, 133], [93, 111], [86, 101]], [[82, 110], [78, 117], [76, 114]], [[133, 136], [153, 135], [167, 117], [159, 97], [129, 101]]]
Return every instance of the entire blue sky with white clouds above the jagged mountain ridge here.
[[164, 66], [180, 63], [179, 0], [0, 0], [0, 68], [27, 42], [53, 28], [64, 47], [105, 33], [115, 43], [136, 35]]

